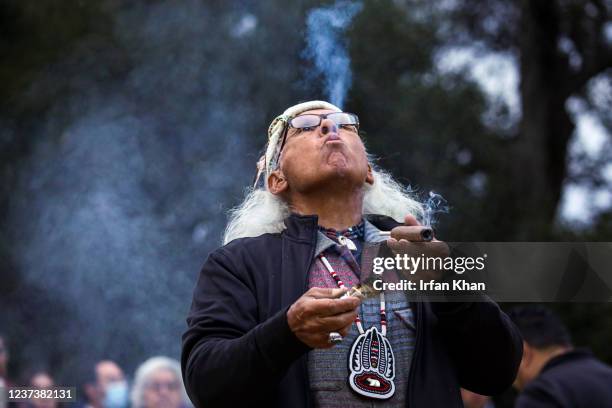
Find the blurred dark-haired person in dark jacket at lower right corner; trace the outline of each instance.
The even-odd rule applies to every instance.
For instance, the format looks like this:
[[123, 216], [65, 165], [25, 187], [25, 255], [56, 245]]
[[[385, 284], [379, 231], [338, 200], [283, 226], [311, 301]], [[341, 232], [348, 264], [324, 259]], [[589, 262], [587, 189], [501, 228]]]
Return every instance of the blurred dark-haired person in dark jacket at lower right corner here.
[[515, 407], [612, 407], [612, 367], [576, 349], [561, 320], [540, 305], [514, 308], [510, 318], [523, 336], [514, 387]]

